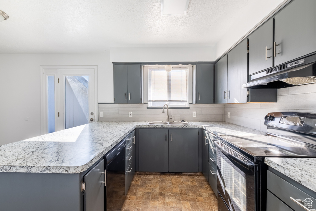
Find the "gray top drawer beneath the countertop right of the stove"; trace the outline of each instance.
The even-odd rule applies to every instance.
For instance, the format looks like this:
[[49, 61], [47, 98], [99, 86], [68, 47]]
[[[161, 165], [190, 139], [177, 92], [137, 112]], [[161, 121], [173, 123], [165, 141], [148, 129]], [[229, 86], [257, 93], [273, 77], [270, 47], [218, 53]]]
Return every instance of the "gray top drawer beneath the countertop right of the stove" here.
[[[307, 195], [307, 193], [305, 193], [303, 190], [296, 188], [293, 184], [285, 181], [271, 171], [267, 171], [267, 188], [268, 190], [270, 190], [271, 193], [276, 195], [279, 199], [281, 199], [285, 204], [287, 204], [295, 211], [306, 211], [306, 209], [302, 207], [304, 200], [311, 200], [313, 202], [316, 202], [316, 199], [313, 196]], [[290, 197], [292, 197], [293, 199], [299, 199], [301, 200], [301, 202], [296, 203]], [[298, 203], [301, 204], [301, 206]], [[310, 209], [316, 208], [314, 204], [312, 204], [312, 206], [313, 208]]]

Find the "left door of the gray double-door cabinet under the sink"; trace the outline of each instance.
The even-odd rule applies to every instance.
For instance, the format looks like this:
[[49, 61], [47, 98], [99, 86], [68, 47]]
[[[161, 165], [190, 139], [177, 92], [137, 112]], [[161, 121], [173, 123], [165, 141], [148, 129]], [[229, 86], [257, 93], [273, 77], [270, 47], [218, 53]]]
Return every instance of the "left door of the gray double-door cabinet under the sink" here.
[[167, 129], [139, 129], [139, 171], [168, 172]]

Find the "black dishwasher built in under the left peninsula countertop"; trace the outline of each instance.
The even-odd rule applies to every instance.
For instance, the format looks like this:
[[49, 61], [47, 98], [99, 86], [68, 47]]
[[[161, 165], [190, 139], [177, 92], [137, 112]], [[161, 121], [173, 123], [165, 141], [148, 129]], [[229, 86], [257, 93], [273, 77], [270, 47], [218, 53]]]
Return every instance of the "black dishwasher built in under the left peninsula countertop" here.
[[121, 210], [125, 200], [125, 146], [122, 140], [103, 157], [106, 170], [106, 210]]

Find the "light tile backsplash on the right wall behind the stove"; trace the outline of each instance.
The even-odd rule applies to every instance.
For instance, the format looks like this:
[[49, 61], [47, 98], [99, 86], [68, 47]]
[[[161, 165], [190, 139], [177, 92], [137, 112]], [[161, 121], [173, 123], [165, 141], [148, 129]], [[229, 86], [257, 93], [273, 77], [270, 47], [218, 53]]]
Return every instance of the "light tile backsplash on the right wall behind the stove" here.
[[[316, 84], [278, 89], [276, 103], [226, 104], [224, 120], [266, 131], [264, 116], [270, 112], [296, 111], [316, 113]], [[229, 111], [229, 118], [228, 118]]]

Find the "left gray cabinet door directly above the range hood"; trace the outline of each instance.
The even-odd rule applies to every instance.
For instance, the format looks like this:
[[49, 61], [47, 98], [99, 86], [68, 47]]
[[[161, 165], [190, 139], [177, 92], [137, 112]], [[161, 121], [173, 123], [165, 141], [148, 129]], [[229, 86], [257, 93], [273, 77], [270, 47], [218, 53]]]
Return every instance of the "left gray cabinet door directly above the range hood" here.
[[[267, 60], [265, 60], [266, 48]], [[273, 19], [271, 18], [249, 36], [249, 75], [272, 66]]]

